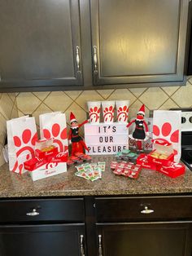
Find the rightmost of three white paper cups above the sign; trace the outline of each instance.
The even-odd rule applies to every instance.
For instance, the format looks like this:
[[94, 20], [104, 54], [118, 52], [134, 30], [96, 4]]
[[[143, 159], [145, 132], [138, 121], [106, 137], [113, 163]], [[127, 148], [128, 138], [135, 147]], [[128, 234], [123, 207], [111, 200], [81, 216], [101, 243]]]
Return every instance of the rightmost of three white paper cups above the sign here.
[[120, 123], [128, 122], [129, 100], [116, 100], [117, 121]]

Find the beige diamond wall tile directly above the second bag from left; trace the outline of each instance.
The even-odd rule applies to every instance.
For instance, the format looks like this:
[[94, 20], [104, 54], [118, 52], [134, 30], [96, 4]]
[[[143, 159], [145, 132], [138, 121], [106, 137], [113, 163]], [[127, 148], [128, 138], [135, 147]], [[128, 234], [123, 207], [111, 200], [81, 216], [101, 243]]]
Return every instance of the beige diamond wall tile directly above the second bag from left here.
[[65, 112], [69, 105], [72, 104], [72, 99], [63, 91], [52, 91], [44, 100], [44, 103], [53, 111]]

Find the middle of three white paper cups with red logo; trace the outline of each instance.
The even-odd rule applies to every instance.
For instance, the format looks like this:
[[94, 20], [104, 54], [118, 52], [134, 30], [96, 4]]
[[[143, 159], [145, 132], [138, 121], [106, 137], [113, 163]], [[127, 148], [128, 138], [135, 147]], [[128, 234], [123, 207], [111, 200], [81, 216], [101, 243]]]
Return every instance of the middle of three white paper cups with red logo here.
[[103, 121], [111, 123], [114, 120], [115, 100], [102, 101]]

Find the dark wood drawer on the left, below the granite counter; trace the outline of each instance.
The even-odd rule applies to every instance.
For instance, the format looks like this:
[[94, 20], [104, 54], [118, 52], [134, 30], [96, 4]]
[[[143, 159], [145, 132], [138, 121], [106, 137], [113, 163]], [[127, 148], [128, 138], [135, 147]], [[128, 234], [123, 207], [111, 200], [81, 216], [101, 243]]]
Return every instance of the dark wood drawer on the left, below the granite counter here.
[[83, 198], [0, 201], [0, 223], [84, 222]]

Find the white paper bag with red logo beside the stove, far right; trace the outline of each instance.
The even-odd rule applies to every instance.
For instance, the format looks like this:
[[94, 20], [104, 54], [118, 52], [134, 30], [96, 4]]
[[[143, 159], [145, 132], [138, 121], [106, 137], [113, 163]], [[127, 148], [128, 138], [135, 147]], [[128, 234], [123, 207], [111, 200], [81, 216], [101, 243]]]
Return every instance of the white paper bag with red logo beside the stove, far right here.
[[153, 118], [153, 139], [164, 139], [172, 143], [174, 161], [181, 158], [181, 111], [155, 110]]

